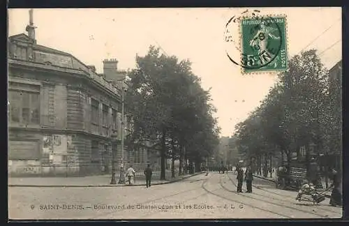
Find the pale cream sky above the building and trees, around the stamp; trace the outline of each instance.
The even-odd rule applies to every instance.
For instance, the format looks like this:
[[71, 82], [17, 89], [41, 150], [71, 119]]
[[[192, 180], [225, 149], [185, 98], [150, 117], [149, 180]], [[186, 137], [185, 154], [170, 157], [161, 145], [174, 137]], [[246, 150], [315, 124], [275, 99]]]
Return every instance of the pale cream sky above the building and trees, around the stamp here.
[[[288, 57], [316, 49], [325, 67], [341, 60], [341, 8], [70, 8], [34, 9], [36, 40], [69, 52], [103, 73], [103, 59], [117, 59], [118, 68], [135, 68], [136, 54], [149, 45], [168, 55], [189, 59], [211, 103], [222, 136], [265, 98], [276, 74], [243, 75], [226, 56], [225, 24], [233, 15], [260, 10], [260, 15], [286, 15]], [[29, 9], [9, 9], [8, 35], [26, 33]]]

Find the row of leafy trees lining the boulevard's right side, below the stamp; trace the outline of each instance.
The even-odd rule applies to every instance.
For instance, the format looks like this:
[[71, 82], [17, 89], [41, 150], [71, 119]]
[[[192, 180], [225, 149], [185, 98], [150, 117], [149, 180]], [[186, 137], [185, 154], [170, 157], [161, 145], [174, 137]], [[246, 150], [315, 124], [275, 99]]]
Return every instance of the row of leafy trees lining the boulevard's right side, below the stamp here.
[[[267, 172], [267, 161], [272, 163], [274, 156], [285, 158], [290, 172], [297, 153], [297, 162], [309, 174], [313, 156], [341, 149], [341, 120], [335, 114], [338, 107], [334, 107], [334, 96], [340, 89], [329, 92], [329, 73], [316, 50], [295, 55], [288, 66], [261, 105], [236, 126], [239, 152], [258, 172], [262, 159]], [[330, 167], [325, 164], [326, 179]]]

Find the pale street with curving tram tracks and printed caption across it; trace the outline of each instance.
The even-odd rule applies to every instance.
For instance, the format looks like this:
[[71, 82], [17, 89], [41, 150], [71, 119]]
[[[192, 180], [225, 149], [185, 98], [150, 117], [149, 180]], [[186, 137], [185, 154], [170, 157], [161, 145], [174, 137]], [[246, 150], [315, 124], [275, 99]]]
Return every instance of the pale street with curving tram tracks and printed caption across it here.
[[[236, 193], [236, 174], [199, 174], [176, 183], [134, 187], [9, 187], [10, 219], [340, 218], [329, 199], [313, 206], [255, 178]], [[245, 185], [244, 187], [245, 188]]]

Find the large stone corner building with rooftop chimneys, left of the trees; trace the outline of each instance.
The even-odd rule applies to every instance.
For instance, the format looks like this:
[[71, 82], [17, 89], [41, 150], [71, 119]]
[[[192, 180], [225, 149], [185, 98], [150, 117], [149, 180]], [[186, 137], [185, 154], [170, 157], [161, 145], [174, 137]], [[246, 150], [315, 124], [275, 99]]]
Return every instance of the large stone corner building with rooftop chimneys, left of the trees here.
[[[121, 89], [125, 72], [103, 61], [103, 74], [73, 55], [38, 45], [32, 20], [8, 39], [8, 174], [110, 173], [121, 162]], [[118, 83], [119, 82], [119, 83]], [[126, 135], [132, 128], [126, 111]], [[112, 140], [112, 130], [117, 139]], [[126, 149], [125, 149], [126, 150]], [[124, 163], [157, 163], [146, 145], [124, 152]]]

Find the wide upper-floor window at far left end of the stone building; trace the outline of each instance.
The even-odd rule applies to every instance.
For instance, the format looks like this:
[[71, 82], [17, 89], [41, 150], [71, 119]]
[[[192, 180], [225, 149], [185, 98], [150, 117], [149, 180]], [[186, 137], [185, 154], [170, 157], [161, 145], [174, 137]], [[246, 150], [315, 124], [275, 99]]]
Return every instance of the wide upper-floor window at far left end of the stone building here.
[[40, 86], [10, 82], [10, 123], [40, 125]]

